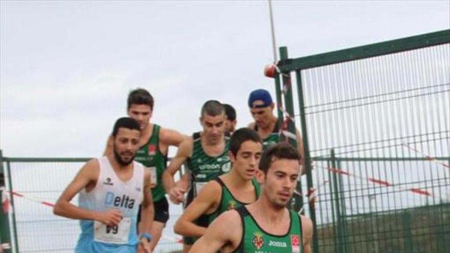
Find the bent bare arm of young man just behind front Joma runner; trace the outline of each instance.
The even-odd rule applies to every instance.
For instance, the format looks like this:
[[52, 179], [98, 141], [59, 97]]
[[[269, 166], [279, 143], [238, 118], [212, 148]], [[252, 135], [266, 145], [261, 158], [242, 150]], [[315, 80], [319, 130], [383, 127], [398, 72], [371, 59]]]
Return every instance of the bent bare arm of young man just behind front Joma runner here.
[[212, 213], [219, 204], [221, 187], [216, 181], [208, 182], [194, 200], [188, 205], [183, 215], [178, 218], [173, 227], [176, 234], [190, 237], [200, 237], [205, 234], [206, 227], [194, 223], [200, 215]]

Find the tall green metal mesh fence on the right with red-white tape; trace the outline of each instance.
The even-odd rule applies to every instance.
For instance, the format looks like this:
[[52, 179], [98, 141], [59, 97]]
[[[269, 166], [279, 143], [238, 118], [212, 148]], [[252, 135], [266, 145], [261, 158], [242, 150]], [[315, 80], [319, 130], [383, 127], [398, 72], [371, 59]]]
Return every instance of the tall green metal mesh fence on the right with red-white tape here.
[[449, 252], [450, 30], [280, 56], [277, 92], [296, 96], [277, 98], [303, 134], [303, 192], [319, 193], [306, 210], [313, 252]]

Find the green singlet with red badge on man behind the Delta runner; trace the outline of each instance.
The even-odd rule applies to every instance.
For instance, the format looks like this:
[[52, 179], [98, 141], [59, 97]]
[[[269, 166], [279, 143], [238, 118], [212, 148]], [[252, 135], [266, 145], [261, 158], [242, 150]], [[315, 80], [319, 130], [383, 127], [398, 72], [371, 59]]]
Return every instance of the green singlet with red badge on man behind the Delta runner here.
[[151, 189], [153, 201], [156, 202], [164, 198], [162, 176], [167, 166], [167, 155], [163, 155], [159, 146], [159, 135], [161, 127], [153, 124], [153, 131], [148, 142], [136, 152], [134, 160], [150, 168], [151, 183], [156, 186]]

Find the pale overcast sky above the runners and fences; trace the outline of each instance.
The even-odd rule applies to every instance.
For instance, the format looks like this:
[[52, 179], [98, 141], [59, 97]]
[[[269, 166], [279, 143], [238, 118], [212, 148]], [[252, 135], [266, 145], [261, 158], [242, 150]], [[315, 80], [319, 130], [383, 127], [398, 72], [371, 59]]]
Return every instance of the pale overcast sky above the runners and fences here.
[[[278, 45], [301, 57], [450, 28], [449, 1], [274, 1]], [[0, 1], [5, 156], [98, 156], [130, 89], [152, 121], [197, 130], [209, 99], [235, 106], [273, 80], [266, 1]]]

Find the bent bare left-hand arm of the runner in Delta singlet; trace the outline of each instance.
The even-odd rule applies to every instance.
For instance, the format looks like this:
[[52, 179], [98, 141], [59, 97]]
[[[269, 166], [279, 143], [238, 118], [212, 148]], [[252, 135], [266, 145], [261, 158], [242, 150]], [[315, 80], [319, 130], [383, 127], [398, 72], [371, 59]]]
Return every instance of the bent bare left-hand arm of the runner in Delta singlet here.
[[107, 225], [118, 224], [122, 219], [122, 213], [119, 210], [96, 212], [79, 208], [70, 202], [72, 198], [87, 185], [90, 184], [91, 186], [95, 186], [99, 170], [98, 160], [89, 160], [80, 169], [72, 182], [69, 183], [69, 186], [62, 192], [58, 201], [56, 201], [53, 213], [72, 219], [97, 220]]

